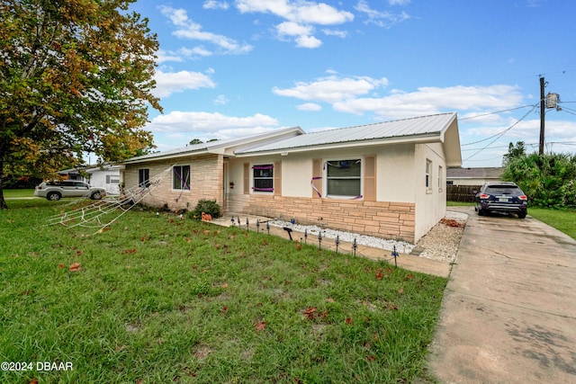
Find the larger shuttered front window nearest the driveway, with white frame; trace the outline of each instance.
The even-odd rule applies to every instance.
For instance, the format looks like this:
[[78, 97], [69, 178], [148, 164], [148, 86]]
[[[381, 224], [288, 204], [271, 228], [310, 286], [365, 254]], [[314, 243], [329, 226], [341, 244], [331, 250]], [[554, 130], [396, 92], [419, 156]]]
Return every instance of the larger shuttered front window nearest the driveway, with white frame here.
[[330, 196], [358, 197], [361, 192], [362, 162], [359, 159], [329, 161], [326, 187]]

